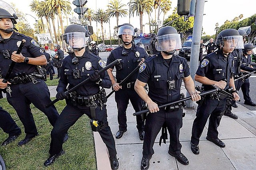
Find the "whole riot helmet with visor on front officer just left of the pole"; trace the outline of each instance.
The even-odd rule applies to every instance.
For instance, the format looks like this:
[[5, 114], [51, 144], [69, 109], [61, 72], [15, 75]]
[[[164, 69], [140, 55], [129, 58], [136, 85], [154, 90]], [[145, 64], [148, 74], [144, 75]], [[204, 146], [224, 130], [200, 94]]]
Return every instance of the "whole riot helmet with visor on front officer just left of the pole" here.
[[156, 42], [156, 50], [163, 51], [167, 55], [172, 55], [176, 49], [181, 48], [180, 34], [172, 26], [160, 28], [154, 41]]

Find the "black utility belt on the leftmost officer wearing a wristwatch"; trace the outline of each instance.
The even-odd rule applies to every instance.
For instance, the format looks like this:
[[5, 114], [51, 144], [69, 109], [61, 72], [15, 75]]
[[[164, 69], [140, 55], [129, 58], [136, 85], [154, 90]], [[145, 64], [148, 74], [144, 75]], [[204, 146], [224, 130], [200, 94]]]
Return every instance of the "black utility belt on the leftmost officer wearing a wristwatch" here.
[[36, 79], [44, 79], [44, 75], [39, 74], [38, 72], [26, 74], [24, 71], [22, 73], [16, 73], [16, 77], [12, 79], [8, 79], [8, 81], [14, 85], [20, 84], [20, 83], [28, 83], [33, 82], [34, 84], [39, 83], [40, 81]]

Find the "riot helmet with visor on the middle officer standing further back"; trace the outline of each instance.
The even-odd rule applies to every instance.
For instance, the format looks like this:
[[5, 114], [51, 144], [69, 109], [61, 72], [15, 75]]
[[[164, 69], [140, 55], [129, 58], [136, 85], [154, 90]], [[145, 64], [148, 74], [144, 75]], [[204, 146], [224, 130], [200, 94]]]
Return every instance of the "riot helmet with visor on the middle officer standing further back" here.
[[[122, 24], [122, 25], [118, 26], [117, 34], [118, 34], [118, 37], [122, 40], [122, 42], [125, 45], [129, 45], [130, 43], [132, 43], [134, 37], [136, 36], [136, 32], [137, 31], [138, 31], [137, 28], [134, 28], [129, 23], [125, 23], [125, 24]], [[130, 35], [130, 36], [132, 36], [132, 41], [131, 42], [124, 42], [124, 40], [122, 39], [122, 35]]]

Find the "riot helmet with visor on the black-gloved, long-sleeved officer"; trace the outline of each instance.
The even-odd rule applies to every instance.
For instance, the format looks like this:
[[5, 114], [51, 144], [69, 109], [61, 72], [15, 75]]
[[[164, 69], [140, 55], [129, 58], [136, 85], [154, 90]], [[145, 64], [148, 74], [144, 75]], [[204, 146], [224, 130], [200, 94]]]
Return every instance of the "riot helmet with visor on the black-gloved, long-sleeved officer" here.
[[88, 35], [88, 31], [83, 26], [73, 24], [67, 26], [63, 39], [72, 49], [80, 51], [89, 45]]

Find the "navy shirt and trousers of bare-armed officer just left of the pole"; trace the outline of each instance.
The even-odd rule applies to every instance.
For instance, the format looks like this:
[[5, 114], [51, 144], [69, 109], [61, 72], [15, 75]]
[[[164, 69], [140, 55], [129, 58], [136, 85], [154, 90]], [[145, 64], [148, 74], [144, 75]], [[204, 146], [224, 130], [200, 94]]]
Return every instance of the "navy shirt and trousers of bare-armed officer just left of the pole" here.
[[[148, 83], [148, 97], [158, 106], [179, 100], [182, 79], [190, 75], [187, 60], [183, 57], [172, 55], [169, 62], [170, 65], [159, 53], [146, 59], [139, 70], [138, 80]], [[167, 81], [172, 83], [171, 87]], [[182, 127], [182, 108], [176, 111], [168, 108], [159, 110], [157, 113], [149, 113], [146, 117], [143, 158], [150, 159], [154, 154], [154, 141], [164, 123], [170, 134], [169, 152], [181, 154], [179, 135]]]

